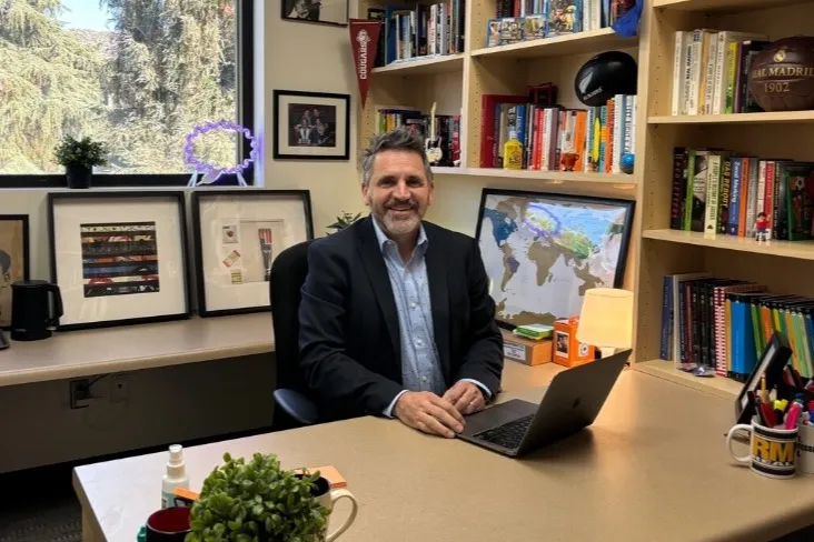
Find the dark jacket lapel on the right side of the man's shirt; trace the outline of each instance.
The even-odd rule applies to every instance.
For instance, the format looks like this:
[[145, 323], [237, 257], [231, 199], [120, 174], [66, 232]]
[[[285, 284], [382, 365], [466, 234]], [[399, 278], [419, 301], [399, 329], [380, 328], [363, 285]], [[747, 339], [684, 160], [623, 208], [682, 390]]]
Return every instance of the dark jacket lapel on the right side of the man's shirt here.
[[431, 227], [425, 224], [427, 232], [427, 252], [424, 259], [427, 264], [427, 280], [429, 281], [429, 304], [433, 309], [433, 332], [435, 344], [438, 348], [438, 357], [444, 374], [449, 374], [449, 292], [447, 291], [447, 267], [444, 263], [444, 247], [439, 244], [438, 238], [431, 231]]

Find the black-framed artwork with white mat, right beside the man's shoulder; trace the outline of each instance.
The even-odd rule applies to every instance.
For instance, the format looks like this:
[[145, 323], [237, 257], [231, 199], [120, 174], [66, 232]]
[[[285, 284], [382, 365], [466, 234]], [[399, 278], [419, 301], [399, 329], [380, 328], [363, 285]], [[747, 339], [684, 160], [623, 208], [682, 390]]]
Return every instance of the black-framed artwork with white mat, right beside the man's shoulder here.
[[192, 192], [198, 313], [219, 317], [271, 309], [271, 263], [314, 239], [308, 190]]

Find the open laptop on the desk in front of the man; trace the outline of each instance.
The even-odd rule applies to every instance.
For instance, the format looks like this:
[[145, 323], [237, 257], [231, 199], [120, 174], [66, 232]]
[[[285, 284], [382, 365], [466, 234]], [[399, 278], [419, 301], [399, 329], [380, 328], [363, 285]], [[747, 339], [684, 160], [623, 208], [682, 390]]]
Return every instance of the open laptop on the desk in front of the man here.
[[539, 404], [513, 399], [468, 415], [458, 438], [518, 456], [574, 434], [594, 423], [631, 352], [557, 373]]

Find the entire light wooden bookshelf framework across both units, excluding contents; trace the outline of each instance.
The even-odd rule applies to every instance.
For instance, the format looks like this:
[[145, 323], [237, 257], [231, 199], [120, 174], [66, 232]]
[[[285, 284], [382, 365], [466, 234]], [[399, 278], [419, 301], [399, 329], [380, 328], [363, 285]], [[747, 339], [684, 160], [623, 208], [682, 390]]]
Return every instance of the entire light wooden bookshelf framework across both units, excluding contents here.
[[[360, 16], [374, 6], [381, 4], [363, 0]], [[434, 168], [445, 197], [466, 189], [474, 201], [480, 188], [500, 187], [634, 199], [634, 233], [623, 284], [635, 292], [633, 368], [734, 398], [739, 383], [719, 377], [696, 378], [659, 359], [664, 277], [707, 271], [766, 284], [776, 293], [814, 297], [814, 242], [756, 243], [671, 230], [673, 150], [717, 147], [761, 158], [814, 160], [814, 111], [672, 116], [675, 32], [708, 28], [761, 32], [770, 40], [806, 34], [811, 33], [808, 21], [814, 20], [814, 0], [645, 0], [634, 39], [600, 29], [486, 48], [486, 24], [495, 13], [496, 0], [467, 2], [461, 54], [373, 70], [368, 104], [358, 111], [360, 144], [376, 131], [376, 107], [429, 111], [436, 101], [439, 113], [460, 114], [461, 119], [460, 167]], [[634, 174], [479, 167], [484, 94], [523, 94], [529, 84], [550, 81], [558, 87], [560, 104], [583, 107], [573, 90], [576, 71], [606, 50], [628, 52], [638, 62]]]

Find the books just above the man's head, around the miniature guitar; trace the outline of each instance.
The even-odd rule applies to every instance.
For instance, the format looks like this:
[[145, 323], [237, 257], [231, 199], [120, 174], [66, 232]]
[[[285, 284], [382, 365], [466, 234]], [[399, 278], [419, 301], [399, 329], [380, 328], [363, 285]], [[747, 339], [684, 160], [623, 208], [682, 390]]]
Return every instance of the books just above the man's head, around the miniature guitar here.
[[[408, 126], [417, 131], [421, 138], [429, 138], [431, 116], [417, 109], [406, 107], [376, 106], [376, 133], [389, 132], [396, 127]], [[440, 149], [444, 152], [439, 163], [434, 165], [460, 165], [460, 116], [436, 114], [435, 134], [439, 138]]]

